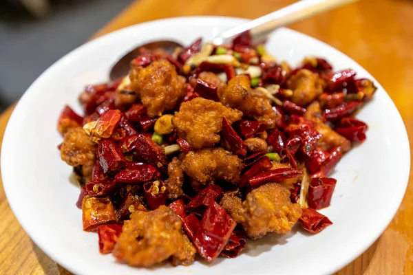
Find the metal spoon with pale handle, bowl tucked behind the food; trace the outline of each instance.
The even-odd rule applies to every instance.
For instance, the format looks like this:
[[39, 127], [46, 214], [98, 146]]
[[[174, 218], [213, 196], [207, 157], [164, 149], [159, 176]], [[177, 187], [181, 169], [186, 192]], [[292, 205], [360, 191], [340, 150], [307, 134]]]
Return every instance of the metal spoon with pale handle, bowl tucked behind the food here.
[[[263, 17], [248, 21], [244, 24], [238, 25], [235, 28], [231, 28], [222, 32], [218, 36], [213, 38], [212, 42], [215, 45], [221, 45], [226, 41], [229, 41], [234, 36], [241, 34], [247, 30], [251, 31], [253, 39], [258, 40], [262, 36], [266, 36], [269, 32], [276, 28], [295, 23], [313, 17], [321, 12], [327, 12], [333, 8], [339, 8], [341, 5], [347, 3], [353, 3], [359, 0], [301, 0], [291, 5], [286, 6], [270, 14], [266, 14]], [[155, 50], [156, 48], [162, 48], [169, 54], [172, 54], [176, 47], [183, 47], [180, 43], [175, 41], [153, 41], [144, 45], [139, 45], [131, 50], [125, 56], [119, 59], [118, 62], [112, 67], [110, 71], [110, 80], [116, 80], [122, 76], [128, 74], [130, 69], [130, 62], [137, 56], [139, 56], [139, 48], [145, 47], [147, 50]]]

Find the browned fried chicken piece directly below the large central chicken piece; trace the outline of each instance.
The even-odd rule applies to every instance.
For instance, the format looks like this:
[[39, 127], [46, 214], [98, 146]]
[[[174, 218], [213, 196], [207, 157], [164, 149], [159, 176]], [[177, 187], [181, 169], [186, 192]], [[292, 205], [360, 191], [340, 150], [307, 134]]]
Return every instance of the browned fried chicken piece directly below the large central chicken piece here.
[[241, 159], [221, 147], [190, 151], [182, 161], [184, 172], [200, 184], [213, 184], [217, 179], [236, 184], [241, 166]]

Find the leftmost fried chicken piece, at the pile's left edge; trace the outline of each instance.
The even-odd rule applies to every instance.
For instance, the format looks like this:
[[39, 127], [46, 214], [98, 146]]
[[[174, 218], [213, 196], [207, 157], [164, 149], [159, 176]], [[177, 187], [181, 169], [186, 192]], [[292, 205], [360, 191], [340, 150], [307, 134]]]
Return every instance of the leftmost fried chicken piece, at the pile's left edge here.
[[94, 165], [96, 144], [92, 142], [82, 127], [76, 127], [67, 133], [61, 144], [61, 159], [70, 166]]

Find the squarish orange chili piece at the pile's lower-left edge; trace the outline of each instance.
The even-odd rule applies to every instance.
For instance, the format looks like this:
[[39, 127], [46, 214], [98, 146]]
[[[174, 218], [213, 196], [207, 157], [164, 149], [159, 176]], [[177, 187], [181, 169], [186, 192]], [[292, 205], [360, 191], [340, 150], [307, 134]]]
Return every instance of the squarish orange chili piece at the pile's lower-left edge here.
[[116, 221], [114, 206], [109, 197], [90, 197], [82, 202], [83, 230], [95, 231], [99, 225]]

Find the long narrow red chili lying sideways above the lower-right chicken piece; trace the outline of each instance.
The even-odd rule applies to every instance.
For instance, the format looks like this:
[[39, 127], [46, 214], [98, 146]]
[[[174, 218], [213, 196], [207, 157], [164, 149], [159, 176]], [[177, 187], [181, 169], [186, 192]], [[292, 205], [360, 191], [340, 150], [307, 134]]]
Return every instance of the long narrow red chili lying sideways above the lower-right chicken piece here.
[[268, 182], [279, 182], [284, 179], [292, 179], [301, 174], [302, 172], [295, 168], [278, 168], [254, 175], [248, 179], [248, 182], [252, 188], [257, 188], [258, 186], [267, 184]]

